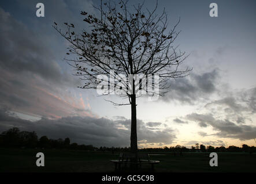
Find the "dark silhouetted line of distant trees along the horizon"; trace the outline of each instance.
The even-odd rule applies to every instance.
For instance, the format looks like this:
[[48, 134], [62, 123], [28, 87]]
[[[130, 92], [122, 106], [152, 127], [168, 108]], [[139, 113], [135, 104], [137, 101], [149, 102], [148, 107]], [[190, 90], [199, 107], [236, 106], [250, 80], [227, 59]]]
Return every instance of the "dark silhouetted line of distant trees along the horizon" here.
[[[63, 139], [49, 139], [47, 136], [42, 136], [38, 139], [36, 132], [20, 131], [20, 129], [14, 127], [8, 131], [4, 131], [0, 135], [0, 147], [5, 148], [45, 148], [45, 149], [70, 149], [70, 150], [87, 150], [87, 151], [102, 151], [102, 152], [128, 152], [131, 151], [129, 147], [94, 147], [93, 145], [84, 145], [71, 143], [69, 137]], [[142, 148], [139, 151], [145, 152], [256, 152], [256, 147], [243, 144], [242, 147], [236, 147], [230, 145], [228, 148], [224, 146], [213, 147], [198, 143], [191, 148], [187, 148], [181, 145], [175, 147], [164, 148]]]

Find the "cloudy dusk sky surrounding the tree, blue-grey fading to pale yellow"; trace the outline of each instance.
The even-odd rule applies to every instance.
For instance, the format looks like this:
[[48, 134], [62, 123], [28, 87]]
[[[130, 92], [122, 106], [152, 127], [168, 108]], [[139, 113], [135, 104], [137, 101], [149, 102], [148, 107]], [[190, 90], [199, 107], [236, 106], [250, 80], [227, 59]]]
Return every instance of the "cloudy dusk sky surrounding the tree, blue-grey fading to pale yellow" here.
[[[99, 1], [56, 0], [0, 2], [0, 131], [18, 127], [50, 138], [95, 146], [129, 146], [131, 109], [113, 106], [94, 90], [81, 90], [64, 61], [68, 43], [53, 22], [73, 22], [87, 29], [80, 11], [97, 14]], [[139, 1], [129, 1], [129, 5]], [[172, 26], [180, 17], [176, 45], [190, 54], [186, 78], [171, 80], [165, 97], [140, 98], [137, 106], [139, 147], [195, 143], [255, 145], [256, 2], [162, 1]], [[154, 8], [155, 1], [146, 1]]]

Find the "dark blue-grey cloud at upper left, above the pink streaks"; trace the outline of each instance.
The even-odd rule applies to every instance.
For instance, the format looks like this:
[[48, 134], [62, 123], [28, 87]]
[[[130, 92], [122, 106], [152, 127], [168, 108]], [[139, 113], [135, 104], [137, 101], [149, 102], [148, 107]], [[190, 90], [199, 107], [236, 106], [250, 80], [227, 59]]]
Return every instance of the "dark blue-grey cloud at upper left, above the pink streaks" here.
[[71, 82], [63, 75], [53, 51], [23, 23], [0, 7], [0, 67], [19, 75], [39, 75], [55, 83]]

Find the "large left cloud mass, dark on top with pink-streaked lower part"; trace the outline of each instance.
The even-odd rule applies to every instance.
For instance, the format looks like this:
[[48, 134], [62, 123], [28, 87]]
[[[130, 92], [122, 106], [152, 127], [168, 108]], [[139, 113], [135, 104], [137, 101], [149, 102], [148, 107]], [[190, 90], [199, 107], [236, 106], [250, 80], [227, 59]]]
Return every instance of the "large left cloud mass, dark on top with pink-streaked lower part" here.
[[29, 29], [1, 7], [0, 21], [0, 106], [45, 117], [90, 116], [68, 90], [79, 80], [58, 64], [42, 30]]

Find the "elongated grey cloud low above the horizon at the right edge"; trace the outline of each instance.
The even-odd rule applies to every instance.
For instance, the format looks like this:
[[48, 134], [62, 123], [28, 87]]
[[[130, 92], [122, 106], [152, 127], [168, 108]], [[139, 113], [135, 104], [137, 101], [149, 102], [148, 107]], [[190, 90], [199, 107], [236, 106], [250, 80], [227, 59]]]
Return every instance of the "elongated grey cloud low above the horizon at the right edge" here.
[[200, 127], [211, 126], [217, 133], [218, 137], [230, 137], [240, 140], [254, 139], [256, 135], [256, 127], [249, 125], [236, 125], [227, 119], [219, 120], [213, 117], [213, 114], [197, 114], [192, 113], [187, 115], [190, 121], [198, 122]]

